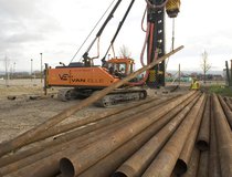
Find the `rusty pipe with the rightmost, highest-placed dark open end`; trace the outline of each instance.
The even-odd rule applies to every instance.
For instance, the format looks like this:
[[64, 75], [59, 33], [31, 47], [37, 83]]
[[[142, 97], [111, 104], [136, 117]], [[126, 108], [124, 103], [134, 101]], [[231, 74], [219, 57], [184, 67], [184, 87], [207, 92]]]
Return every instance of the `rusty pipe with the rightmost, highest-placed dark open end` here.
[[196, 146], [200, 150], [209, 150], [210, 143], [210, 107], [211, 107], [211, 96], [208, 96], [207, 105], [203, 113], [202, 123], [197, 137]]

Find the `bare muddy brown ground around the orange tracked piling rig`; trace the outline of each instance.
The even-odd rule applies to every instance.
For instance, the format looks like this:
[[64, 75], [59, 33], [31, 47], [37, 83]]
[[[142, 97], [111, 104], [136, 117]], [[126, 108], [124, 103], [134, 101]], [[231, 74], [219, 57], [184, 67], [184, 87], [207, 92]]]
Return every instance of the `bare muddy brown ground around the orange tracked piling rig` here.
[[[0, 81], [0, 143], [9, 140], [21, 133], [43, 123], [50, 117], [56, 115], [63, 110], [78, 104], [81, 101], [61, 102], [56, 97], [57, 88], [49, 90], [46, 97], [30, 100], [31, 95], [43, 94], [43, 83], [40, 80], [11, 80], [6, 85], [6, 81]], [[149, 97], [170, 96], [171, 94], [182, 94], [188, 92], [188, 87], [169, 93], [164, 90], [148, 90]], [[9, 95], [15, 96], [15, 100], [8, 100]], [[54, 95], [51, 97], [51, 95]], [[108, 112], [124, 105], [103, 108], [91, 105], [75, 115], [67, 118], [62, 124], [73, 122], [77, 118], [85, 118], [101, 112]]]

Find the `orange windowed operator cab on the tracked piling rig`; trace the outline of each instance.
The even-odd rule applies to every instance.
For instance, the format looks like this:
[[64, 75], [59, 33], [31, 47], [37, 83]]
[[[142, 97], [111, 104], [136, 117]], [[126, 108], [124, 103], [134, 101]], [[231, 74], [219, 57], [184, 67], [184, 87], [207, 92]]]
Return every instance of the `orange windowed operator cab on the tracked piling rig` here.
[[106, 62], [109, 74], [125, 77], [134, 72], [135, 62], [133, 59], [120, 58], [110, 59]]

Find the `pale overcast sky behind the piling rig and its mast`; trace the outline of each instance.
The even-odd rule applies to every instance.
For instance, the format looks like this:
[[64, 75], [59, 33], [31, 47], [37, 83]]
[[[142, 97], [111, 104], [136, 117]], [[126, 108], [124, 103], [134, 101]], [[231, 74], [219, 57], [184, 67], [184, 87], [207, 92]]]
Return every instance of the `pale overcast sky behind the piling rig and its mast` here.
[[[88, 35], [95, 23], [112, 0], [0, 0], [0, 71], [4, 71], [4, 58], [10, 66], [15, 62], [17, 71], [40, 70], [40, 53], [43, 62], [55, 66], [59, 62], [68, 64], [78, 46]], [[101, 55], [114, 35], [129, 0], [124, 0], [101, 38]], [[116, 42], [118, 53], [124, 44], [133, 59], [139, 63], [139, 54], [145, 33], [140, 29], [145, 0], [136, 0]], [[184, 49], [170, 58], [168, 70], [197, 71], [200, 69], [201, 53], [209, 54], [211, 70], [221, 71], [224, 61], [232, 59], [232, 1], [201, 0], [183, 1], [176, 19], [175, 45]], [[171, 20], [166, 19], [166, 50], [171, 45]], [[78, 61], [96, 32], [75, 58]], [[96, 54], [96, 46], [91, 55]], [[102, 58], [101, 58], [102, 59]], [[136, 65], [139, 67], [139, 64]]]

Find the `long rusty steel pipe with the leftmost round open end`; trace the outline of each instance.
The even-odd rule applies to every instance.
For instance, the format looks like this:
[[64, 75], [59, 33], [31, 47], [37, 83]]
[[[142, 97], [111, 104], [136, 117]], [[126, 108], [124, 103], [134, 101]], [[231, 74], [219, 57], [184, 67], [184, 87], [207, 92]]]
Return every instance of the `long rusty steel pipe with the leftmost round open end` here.
[[[86, 149], [83, 152], [78, 152], [75, 155], [70, 155], [67, 157], [62, 158], [60, 170], [62, 171], [63, 176], [76, 176], [81, 174], [83, 170], [91, 167], [97, 160], [110, 154], [125, 142], [129, 140], [143, 129], [145, 129], [154, 122], [159, 119], [161, 116], [170, 112], [173, 107], [182, 103], [192, 94], [193, 93], [183, 95], [172, 101], [171, 103], [168, 103], [166, 106], [164, 106], [164, 108], [159, 108], [150, 114], [146, 114], [146, 117], [143, 116], [141, 118], [131, 122], [127, 126], [117, 129], [114, 134], [108, 134], [104, 139], [92, 144], [91, 146], [86, 147]], [[156, 115], [156, 117], [154, 117], [154, 115]], [[74, 170], [70, 171], [70, 169]]]

